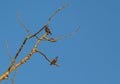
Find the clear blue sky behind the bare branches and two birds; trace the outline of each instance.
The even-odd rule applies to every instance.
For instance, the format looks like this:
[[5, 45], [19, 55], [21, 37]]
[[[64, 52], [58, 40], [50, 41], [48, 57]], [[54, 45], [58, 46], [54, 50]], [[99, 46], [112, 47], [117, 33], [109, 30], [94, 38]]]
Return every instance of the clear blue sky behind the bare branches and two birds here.
[[[34, 54], [18, 69], [15, 84], [120, 84], [119, 0], [1, 0], [0, 74], [10, 63], [5, 41], [8, 40], [14, 57], [27, 35], [18, 22], [18, 11], [33, 34], [65, 3], [70, 6], [52, 19], [49, 27], [53, 35], [49, 37], [63, 36], [78, 26], [80, 31], [56, 43], [41, 42], [39, 46], [50, 59], [59, 56], [61, 66], [49, 66], [41, 55]], [[27, 42], [17, 62], [29, 53], [35, 41]]]

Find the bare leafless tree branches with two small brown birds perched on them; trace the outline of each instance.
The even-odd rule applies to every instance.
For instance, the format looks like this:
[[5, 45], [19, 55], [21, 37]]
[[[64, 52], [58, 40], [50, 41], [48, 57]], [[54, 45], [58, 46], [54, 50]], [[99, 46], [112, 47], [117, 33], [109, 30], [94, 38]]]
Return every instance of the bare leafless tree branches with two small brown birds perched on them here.
[[[20, 48], [18, 49], [17, 53], [15, 54], [14, 58], [12, 59], [12, 56], [10, 55], [10, 52], [8, 50], [8, 43], [6, 43], [6, 48], [7, 48], [7, 52], [8, 52], [8, 56], [10, 57], [10, 60], [11, 60], [11, 64], [9, 65], [8, 69], [0, 76], [0, 81], [3, 81], [5, 79], [8, 79], [9, 77], [9, 74], [11, 72], [14, 71], [14, 76], [13, 76], [13, 79], [12, 79], [12, 84], [14, 84], [14, 80], [15, 80], [15, 76], [16, 76], [16, 73], [17, 73], [17, 69], [18, 67], [20, 67], [22, 64], [26, 63], [30, 58], [31, 56], [33, 56], [34, 53], [39, 53], [41, 54], [42, 56], [44, 56], [44, 58], [50, 63], [50, 65], [55, 65], [55, 66], [59, 66], [59, 64], [57, 64], [57, 60], [58, 60], [58, 57], [55, 57], [53, 60], [50, 60], [45, 53], [43, 53], [42, 51], [38, 50], [38, 46], [40, 44], [40, 42], [42, 40], [47, 40], [47, 41], [50, 41], [50, 42], [56, 42], [62, 38], [66, 38], [68, 36], [71, 36], [72, 34], [74, 34], [76, 31], [78, 31], [78, 29], [66, 36], [62, 36], [60, 38], [48, 38], [47, 35], [49, 34], [52, 34], [52, 32], [50, 31], [50, 28], [49, 28], [49, 23], [51, 21], [51, 19], [59, 12], [61, 11], [63, 8], [67, 7], [68, 4], [64, 4], [62, 7], [58, 8], [49, 18], [48, 18], [48, 21], [47, 23], [41, 27], [37, 32], [35, 32], [34, 34], [30, 34], [30, 31], [28, 29], [28, 27], [20, 20], [20, 12], [18, 13], [18, 22], [24, 27], [25, 31], [27, 32], [27, 36], [24, 38]], [[39, 37], [38, 34], [40, 34], [41, 31], [45, 31], [45, 33]], [[26, 42], [28, 40], [30, 40], [31, 38], [36, 38], [37, 41], [36, 43], [34, 44], [34, 47], [31, 49], [31, 51], [29, 52], [29, 54], [24, 57], [20, 62], [18, 63], [15, 63], [20, 52], [22, 51], [22, 49], [24, 48]]]

